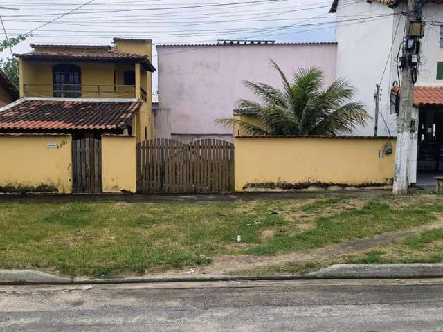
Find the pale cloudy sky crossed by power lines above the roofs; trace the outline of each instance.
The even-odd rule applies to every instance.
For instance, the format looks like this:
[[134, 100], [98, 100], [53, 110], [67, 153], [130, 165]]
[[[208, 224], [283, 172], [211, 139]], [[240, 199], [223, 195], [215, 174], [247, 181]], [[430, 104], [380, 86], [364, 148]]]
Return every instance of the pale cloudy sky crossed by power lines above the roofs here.
[[[341, 0], [355, 2], [355, 0]], [[87, 0], [0, 1], [8, 37], [17, 37], [87, 3]], [[94, 0], [35, 30], [29, 44], [111, 44], [113, 37], [152, 39], [153, 44], [209, 44], [218, 39], [276, 42], [334, 40], [332, 0]], [[6, 38], [3, 28], [0, 34]], [[4, 50], [2, 58], [10, 57]], [[156, 65], [154, 48], [153, 63]]]

